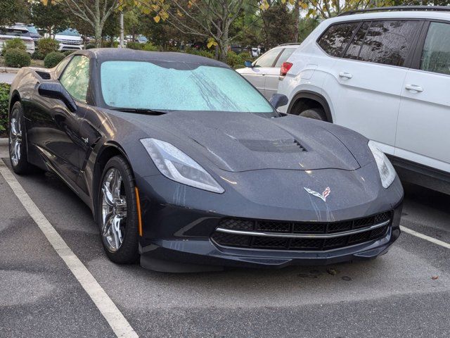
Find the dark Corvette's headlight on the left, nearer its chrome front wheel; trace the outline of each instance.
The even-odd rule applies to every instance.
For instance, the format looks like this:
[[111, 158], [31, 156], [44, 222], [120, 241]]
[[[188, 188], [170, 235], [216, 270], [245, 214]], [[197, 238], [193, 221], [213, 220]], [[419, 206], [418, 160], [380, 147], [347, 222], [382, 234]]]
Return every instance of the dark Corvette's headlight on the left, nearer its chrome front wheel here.
[[162, 175], [176, 182], [208, 192], [224, 192], [219, 183], [197, 162], [176, 146], [159, 139], [141, 139], [148, 154]]

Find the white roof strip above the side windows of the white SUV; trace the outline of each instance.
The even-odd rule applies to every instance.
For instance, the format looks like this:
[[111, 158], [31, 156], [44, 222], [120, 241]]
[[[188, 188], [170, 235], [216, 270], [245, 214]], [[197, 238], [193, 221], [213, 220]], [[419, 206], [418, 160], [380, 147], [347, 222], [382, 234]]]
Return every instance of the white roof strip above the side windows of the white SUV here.
[[450, 20], [450, 12], [445, 11], [386, 11], [386, 12], [367, 12], [354, 13], [349, 15], [340, 15], [335, 18], [327, 19], [327, 23], [339, 23], [342, 21], [360, 21], [374, 19], [435, 19]]

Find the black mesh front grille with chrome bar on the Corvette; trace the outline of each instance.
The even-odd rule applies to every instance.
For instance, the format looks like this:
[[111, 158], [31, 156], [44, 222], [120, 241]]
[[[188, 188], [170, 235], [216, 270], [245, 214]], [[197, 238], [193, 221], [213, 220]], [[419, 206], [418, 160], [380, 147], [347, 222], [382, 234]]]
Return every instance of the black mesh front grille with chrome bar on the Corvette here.
[[[389, 230], [390, 223], [373, 229], [371, 227], [387, 221], [390, 222], [391, 219], [392, 212], [390, 211], [366, 218], [333, 223], [290, 223], [226, 218], [219, 222], [218, 228], [221, 230], [216, 230], [211, 238], [220, 246], [248, 249], [324, 251], [380, 239]], [[366, 231], [364, 231], [365, 228], [367, 228]], [[230, 234], [222, 232], [224, 230], [245, 233]], [[340, 232], [352, 232], [352, 230], [361, 232], [338, 236]], [[256, 233], [252, 234], [252, 232]], [[263, 237], [262, 232], [266, 236]], [[276, 237], [281, 234], [283, 237]], [[293, 237], [289, 237], [289, 234], [293, 234]], [[331, 237], [326, 237], [327, 234], [330, 234]], [[311, 238], [296, 238], [296, 235], [311, 235]], [[314, 238], [314, 235], [321, 235], [322, 237]]]

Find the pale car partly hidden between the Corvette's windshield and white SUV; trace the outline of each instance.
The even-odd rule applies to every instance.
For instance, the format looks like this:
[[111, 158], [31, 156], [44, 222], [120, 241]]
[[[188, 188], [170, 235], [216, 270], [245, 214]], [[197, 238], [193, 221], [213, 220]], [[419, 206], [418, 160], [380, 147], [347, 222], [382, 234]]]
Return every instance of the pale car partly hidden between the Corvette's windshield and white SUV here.
[[240, 75], [245, 77], [266, 99], [276, 94], [278, 89], [278, 77], [283, 62], [293, 54], [300, 44], [281, 44], [267, 51], [257, 58], [253, 63], [245, 62], [245, 68], [236, 69]]

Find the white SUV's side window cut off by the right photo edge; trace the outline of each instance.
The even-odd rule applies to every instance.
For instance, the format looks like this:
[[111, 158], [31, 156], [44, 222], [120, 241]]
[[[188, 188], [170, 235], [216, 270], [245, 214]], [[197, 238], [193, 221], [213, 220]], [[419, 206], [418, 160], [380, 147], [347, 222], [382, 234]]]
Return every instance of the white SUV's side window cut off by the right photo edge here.
[[450, 25], [430, 23], [423, 46], [420, 69], [450, 75]]

